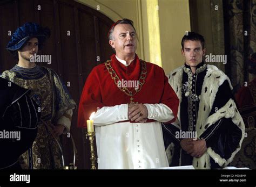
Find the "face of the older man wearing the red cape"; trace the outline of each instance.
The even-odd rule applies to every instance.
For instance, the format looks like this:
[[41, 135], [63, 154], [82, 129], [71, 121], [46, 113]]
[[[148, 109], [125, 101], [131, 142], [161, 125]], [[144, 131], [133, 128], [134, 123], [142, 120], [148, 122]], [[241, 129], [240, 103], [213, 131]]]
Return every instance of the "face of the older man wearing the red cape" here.
[[130, 24], [116, 25], [112, 35], [113, 40], [110, 40], [109, 44], [116, 50], [117, 56], [131, 56], [135, 54], [137, 36]]

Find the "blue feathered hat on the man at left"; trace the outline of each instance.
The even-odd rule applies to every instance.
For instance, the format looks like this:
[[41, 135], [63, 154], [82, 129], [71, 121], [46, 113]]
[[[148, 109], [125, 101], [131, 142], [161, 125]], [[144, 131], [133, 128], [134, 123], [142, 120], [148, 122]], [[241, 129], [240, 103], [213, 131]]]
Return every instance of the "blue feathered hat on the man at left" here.
[[8, 42], [6, 49], [9, 52], [15, 52], [20, 49], [26, 41], [31, 38], [38, 39], [38, 48], [41, 49], [46, 39], [51, 35], [48, 27], [42, 27], [37, 23], [25, 23], [12, 34], [11, 41]]

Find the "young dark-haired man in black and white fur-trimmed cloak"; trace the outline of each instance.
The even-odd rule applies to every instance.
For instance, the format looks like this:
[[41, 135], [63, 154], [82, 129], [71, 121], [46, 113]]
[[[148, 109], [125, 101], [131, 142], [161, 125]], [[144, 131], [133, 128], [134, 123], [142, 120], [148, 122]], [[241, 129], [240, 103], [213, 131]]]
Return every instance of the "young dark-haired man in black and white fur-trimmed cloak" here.
[[230, 79], [203, 61], [204, 37], [188, 32], [181, 41], [185, 64], [169, 75], [179, 98], [178, 118], [163, 124], [170, 166], [226, 167], [240, 150], [245, 125], [237, 110]]

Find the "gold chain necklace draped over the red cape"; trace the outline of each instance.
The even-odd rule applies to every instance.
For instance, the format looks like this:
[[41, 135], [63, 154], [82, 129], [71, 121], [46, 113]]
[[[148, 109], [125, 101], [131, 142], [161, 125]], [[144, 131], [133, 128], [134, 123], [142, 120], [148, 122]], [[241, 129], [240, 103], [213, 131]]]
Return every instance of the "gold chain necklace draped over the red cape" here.
[[[107, 71], [109, 71], [111, 78], [114, 80], [114, 84], [116, 84], [118, 87], [118, 82], [121, 80], [118, 77], [116, 71], [113, 70], [110, 62], [111, 62], [111, 60], [106, 61], [105, 67], [107, 68]], [[134, 98], [132, 96], [136, 95], [136, 93], [138, 93], [142, 89], [142, 86], [145, 83], [145, 78], [147, 77], [146, 62], [143, 60], [140, 60], [140, 67], [142, 67], [142, 69], [140, 70], [139, 88], [138, 89], [133, 88], [132, 91], [130, 91], [127, 87], [118, 87], [119, 90], [123, 91], [127, 96], [130, 96], [130, 103], [134, 103], [133, 102]]]

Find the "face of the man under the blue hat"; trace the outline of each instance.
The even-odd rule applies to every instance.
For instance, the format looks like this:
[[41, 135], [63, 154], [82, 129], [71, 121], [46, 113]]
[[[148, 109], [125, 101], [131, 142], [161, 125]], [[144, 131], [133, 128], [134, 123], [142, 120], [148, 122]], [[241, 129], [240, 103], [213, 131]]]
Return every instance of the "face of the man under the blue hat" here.
[[25, 42], [22, 49], [18, 51], [19, 57], [22, 57], [24, 60], [30, 61], [30, 56], [37, 54], [38, 52], [38, 39], [31, 38], [29, 41]]

